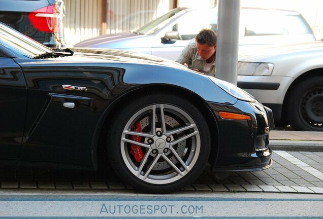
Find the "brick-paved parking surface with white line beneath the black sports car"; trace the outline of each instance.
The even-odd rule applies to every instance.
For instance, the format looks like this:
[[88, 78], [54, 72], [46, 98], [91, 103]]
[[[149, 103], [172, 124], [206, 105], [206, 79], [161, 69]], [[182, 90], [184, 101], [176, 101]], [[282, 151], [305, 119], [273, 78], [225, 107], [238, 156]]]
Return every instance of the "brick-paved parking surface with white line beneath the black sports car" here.
[[[286, 154], [287, 153], [287, 154]], [[323, 194], [323, 152], [274, 151], [273, 165], [263, 171], [234, 172], [217, 180], [208, 169], [187, 191], [283, 192]], [[281, 155], [289, 156], [284, 158]], [[314, 170], [313, 170], [314, 169]], [[127, 189], [111, 169], [101, 172], [1, 168], [0, 186], [5, 189]]]

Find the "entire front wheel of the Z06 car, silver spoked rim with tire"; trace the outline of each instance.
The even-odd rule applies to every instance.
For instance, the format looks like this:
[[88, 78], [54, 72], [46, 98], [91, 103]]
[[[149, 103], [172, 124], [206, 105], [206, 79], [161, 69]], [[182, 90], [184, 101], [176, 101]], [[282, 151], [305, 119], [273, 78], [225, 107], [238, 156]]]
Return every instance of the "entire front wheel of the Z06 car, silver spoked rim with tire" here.
[[[155, 122], [151, 122], [153, 107]], [[164, 108], [164, 123], [160, 120], [161, 107]], [[139, 139], [136, 138], [138, 135], [128, 132], [138, 123], [142, 132], [150, 133], [153, 137], [141, 136]], [[154, 127], [151, 126], [153, 123], [156, 124], [154, 133]], [[188, 128], [188, 124], [192, 128]], [[170, 133], [171, 130], [183, 127], [188, 129]], [[157, 131], [162, 134], [157, 136]], [[134, 139], [142, 143], [140, 148], [144, 156], [139, 161], [135, 159], [132, 149], [134, 143], [129, 142]], [[149, 144], [148, 140], [153, 140], [153, 143]], [[177, 140], [179, 142], [176, 143]], [[170, 193], [187, 186], [203, 171], [210, 154], [210, 131], [202, 113], [188, 100], [169, 93], [147, 94], [124, 104], [110, 125], [107, 148], [111, 166], [125, 182], [146, 193]], [[145, 174], [148, 174], [146, 178]]]

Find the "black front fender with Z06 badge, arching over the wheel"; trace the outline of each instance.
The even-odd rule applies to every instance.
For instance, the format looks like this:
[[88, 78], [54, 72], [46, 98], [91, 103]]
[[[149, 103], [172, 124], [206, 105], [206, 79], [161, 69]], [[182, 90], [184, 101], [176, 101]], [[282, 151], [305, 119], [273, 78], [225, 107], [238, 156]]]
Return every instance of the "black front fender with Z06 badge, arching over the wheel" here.
[[[126, 65], [125, 63], [121, 65], [111, 63], [110, 66], [114, 67], [99, 67], [98, 63], [90, 63], [91, 66], [75, 66], [81, 65], [81, 63], [76, 64], [77, 54], [72, 62], [66, 62], [64, 59], [62, 58], [60, 61], [47, 60], [45, 63], [41, 60], [32, 60], [27, 63], [25, 59], [16, 59], [24, 71], [29, 93], [28, 120], [26, 121], [20, 157], [22, 161], [35, 162], [39, 157], [39, 152], [37, 153], [39, 148], [36, 147], [38, 145], [44, 148], [41, 162], [54, 162], [55, 159], [59, 158], [58, 163], [90, 168], [91, 159], [89, 159], [89, 155], [95, 151], [95, 147], [92, 145], [91, 148], [94, 148], [90, 150], [88, 145], [92, 143], [92, 134], [94, 136], [99, 135], [99, 133], [95, 133], [96, 123], [103, 119], [101, 115], [109, 107], [112, 99], [134, 89], [144, 89], [142, 84], [165, 83], [178, 86], [177, 84], [183, 83], [181, 86], [186, 89], [195, 84], [193, 80], [176, 81], [178, 74], [171, 71], [160, 70], [160, 72], [156, 72], [155, 70], [156, 74], [143, 77], [143, 67], [137, 69], [135, 65], [125, 72], [124, 68], [121, 68], [125, 67], [123, 66]], [[147, 69], [150, 67], [156, 68], [156, 66], [149, 65], [145, 67]], [[167, 67], [167, 69], [170, 68]], [[153, 70], [151, 68], [152, 73]], [[50, 74], [48, 74], [49, 72]], [[174, 74], [177, 75], [175, 79], [171, 77]], [[129, 76], [127, 77], [127, 75]], [[196, 76], [197, 74], [192, 75]], [[127, 83], [124, 82], [125, 79]], [[64, 90], [61, 87], [63, 84], [87, 87], [87, 91]], [[219, 88], [216, 93], [223, 93], [224, 98], [223, 100], [219, 98], [219, 101], [231, 104], [237, 101]], [[54, 94], [72, 95], [72, 97], [57, 98], [53, 96]], [[72, 101], [70, 99], [73, 96], [79, 96], [79, 99], [73, 100], [78, 107], [77, 112], [62, 107], [62, 102]], [[81, 97], [90, 99], [84, 100]], [[57, 118], [61, 119], [60, 124], [57, 124]], [[44, 130], [48, 133], [55, 133], [55, 135], [46, 136]], [[97, 131], [99, 130], [100, 128], [97, 129]], [[57, 138], [57, 136], [60, 137]], [[79, 137], [76, 138], [75, 136]], [[67, 139], [70, 139], [70, 141], [67, 141]], [[76, 151], [78, 152], [76, 153]]]

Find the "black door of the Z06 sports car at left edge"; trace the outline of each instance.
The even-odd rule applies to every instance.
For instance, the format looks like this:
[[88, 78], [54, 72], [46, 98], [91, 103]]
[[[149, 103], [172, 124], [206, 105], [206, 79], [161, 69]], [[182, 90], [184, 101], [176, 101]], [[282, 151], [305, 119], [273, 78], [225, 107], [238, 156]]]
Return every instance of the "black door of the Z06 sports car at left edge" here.
[[0, 102], [0, 158], [16, 158], [23, 139], [27, 89], [19, 65], [1, 54]]

